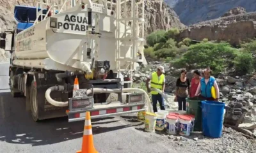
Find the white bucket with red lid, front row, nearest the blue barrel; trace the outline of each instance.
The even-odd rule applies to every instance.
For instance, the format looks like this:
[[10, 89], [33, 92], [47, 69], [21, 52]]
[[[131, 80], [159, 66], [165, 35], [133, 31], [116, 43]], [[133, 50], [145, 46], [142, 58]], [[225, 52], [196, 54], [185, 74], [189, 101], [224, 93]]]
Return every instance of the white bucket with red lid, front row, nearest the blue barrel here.
[[188, 115], [179, 115], [179, 134], [184, 136], [190, 135], [191, 117]]

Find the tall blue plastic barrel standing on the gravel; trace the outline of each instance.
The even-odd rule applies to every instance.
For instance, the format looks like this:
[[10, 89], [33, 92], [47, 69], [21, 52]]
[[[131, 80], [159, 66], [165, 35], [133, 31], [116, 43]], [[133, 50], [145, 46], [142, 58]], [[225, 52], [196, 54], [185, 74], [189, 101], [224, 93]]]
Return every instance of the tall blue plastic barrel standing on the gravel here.
[[203, 135], [220, 138], [222, 135], [225, 103], [202, 101]]

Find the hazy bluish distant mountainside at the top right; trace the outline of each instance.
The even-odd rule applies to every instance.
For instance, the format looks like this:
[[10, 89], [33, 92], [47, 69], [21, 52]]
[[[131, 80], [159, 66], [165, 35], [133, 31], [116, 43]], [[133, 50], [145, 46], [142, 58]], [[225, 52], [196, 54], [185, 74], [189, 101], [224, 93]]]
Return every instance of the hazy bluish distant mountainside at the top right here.
[[[221, 17], [228, 10], [241, 6], [246, 11], [256, 11], [255, 0], [165, 0], [186, 25]], [[173, 3], [175, 2], [175, 3]]]

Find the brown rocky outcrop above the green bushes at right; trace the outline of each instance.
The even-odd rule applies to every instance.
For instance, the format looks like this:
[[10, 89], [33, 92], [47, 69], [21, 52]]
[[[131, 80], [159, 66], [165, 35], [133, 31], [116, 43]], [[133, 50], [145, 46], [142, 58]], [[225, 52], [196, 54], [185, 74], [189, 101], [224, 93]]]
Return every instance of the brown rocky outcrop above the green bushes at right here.
[[241, 41], [255, 38], [256, 12], [246, 13], [244, 8], [234, 8], [223, 13], [223, 17], [199, 22], [189, 26], [180, 33], [180, 39], [191, 38], [201, 41], [228, 41], [232, 45], [239, 45]]

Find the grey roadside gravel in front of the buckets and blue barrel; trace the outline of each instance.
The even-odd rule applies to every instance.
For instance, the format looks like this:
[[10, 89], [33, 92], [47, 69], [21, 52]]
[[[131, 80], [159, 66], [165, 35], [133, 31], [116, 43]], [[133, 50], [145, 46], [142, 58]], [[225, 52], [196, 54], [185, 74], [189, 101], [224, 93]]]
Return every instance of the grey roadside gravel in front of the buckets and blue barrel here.
[[[127, 115], [126, 115], [127, 116]], [[138, 125], [136, 114], [131, 114], [131, 118], [124, 119], [132, 125]], [[120, 117], [122, 119], [122, 116]], [[165, 131], [148, 133], [144, 131], [144, 126], [134, 126], [135, 129], [150, 136], [156, 142], [161, 142], [165, 146], [172, 147], [177, 152], [230, 152], [230, 153], [253, 153], [256, 151], [256, 140], [247, 139], [242, 133], [239, 133], [231, 128], [223, 128], [221, 138], [208, 138], [203, 136], [201, 132], [192, 133], [190, 136], [174, 136], [168, 135]]]

